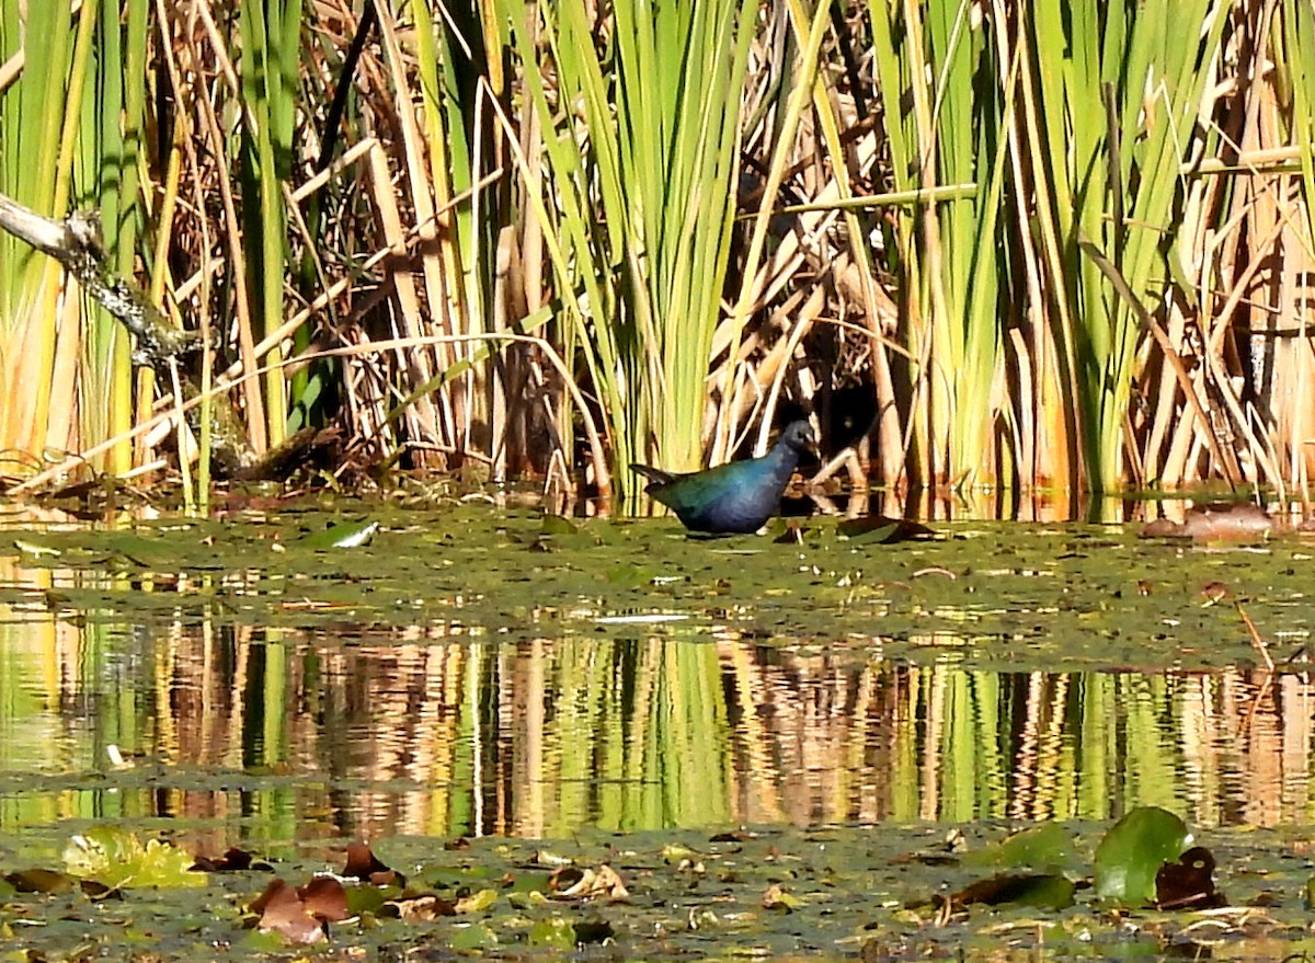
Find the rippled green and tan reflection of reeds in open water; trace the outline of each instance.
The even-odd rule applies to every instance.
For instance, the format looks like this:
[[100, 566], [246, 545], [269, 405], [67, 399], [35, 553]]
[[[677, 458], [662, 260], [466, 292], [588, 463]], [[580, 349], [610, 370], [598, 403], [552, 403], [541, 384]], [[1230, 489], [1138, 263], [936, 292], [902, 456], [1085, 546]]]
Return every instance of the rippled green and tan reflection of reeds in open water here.
[[[0, 820], [170, 816], [295, 839], [1315, 810], [1304, 676], [964, 671], [871, 649], [147, 631], [0, 605]], [[146, 755], [150, 788], [107, 792], [112, 772], [87, 788], [110, 742]], [[70, 779], [24, 785], [38, 771]]]

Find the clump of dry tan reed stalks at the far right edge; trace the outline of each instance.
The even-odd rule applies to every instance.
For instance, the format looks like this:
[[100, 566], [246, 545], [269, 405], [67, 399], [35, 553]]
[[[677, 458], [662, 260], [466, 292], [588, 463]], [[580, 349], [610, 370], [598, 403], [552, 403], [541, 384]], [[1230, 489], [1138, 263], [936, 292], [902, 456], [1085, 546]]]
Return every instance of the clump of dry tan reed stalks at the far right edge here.
[[1185, 283], [1168, 305], [1170, 338], [1194, 367], [1210, 430], [1227, 450], [1223, 463], [1207, 457], [1202, 425], [1181, 417], [1169, 366], [1149, 358], [1151, 410], [1137, 420], [1136, 438], [1148, 479], [1169, 487], [1235, 470], [1281, 493], [1308, 474], [1315, 424], [1299, 399], [1312, 355], [1306, 285], [1297, 279], [1311, 267], [1310, 208], [1294, 171], [1281, 166], [1299, 151], [1281, 120], [1287, 105], [1277, 72], [1265, 66], [1276, 57], [1277, 9], [1244, 4], [1233, 12], [1223, 63], [1236, 72], [1218, 78], [1202, 107], [1220, 154], [1185, 171]]

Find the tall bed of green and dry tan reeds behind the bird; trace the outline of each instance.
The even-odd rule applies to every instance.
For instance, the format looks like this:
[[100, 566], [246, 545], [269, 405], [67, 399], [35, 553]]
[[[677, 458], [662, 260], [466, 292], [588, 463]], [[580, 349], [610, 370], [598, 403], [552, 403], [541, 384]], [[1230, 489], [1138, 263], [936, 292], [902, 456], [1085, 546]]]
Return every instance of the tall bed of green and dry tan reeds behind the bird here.
[[[1311, 0], [0, 8], [0, 191], [256, 453], [633, 509], [810, 413], [855, 484], [1306, 491]], [[0, 238], [11, 487], [195, 451], [84, 301]]]

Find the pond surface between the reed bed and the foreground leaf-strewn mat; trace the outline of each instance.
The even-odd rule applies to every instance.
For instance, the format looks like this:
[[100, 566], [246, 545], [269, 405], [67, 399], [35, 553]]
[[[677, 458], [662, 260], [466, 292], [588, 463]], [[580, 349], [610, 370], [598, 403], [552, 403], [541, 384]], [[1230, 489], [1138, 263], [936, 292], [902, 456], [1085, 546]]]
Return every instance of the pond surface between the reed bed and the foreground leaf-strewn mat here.
[[1311, 821], [1295, 535], [351, 509], [367, 547], [301, 546], [341, 509], [0, 531], [0, 831]]

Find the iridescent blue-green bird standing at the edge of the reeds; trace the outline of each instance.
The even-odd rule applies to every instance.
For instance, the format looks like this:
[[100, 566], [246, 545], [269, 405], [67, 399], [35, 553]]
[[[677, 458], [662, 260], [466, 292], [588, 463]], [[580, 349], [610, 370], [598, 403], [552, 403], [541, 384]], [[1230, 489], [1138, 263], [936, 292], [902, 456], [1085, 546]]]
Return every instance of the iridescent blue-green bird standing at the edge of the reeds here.
[[647, 464], [630, 468], [648, 479], [644, 493], [667, 505], [690, 531], [738, 535], [757, 531], [781, 508], [785, 485], [813, 445], [807, 421], [793, 421], [761, 458], [677, 474]]

